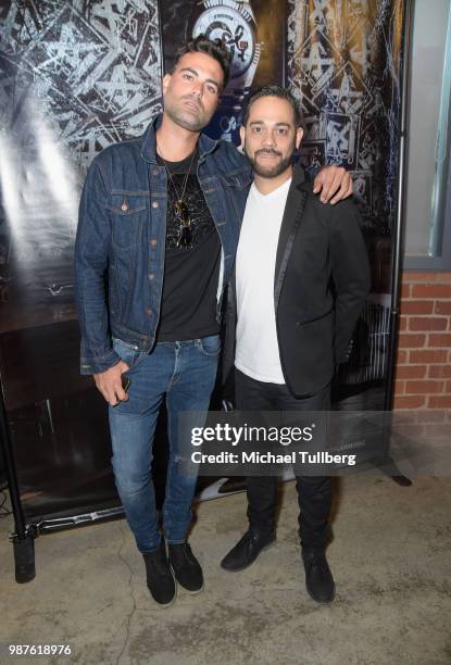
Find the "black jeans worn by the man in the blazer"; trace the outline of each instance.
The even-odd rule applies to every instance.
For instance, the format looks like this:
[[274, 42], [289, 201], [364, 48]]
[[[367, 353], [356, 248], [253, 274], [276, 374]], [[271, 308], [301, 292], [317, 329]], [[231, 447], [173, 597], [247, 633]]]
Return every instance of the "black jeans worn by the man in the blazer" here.
[[[313, 397], [296, 399], [287, 386], [266, 384], [235, 371], [238, 411], [329, 411], [330, 386]], [[275, 528], [277, 486], [275, 476], [248, 477], [248, 518], [250, 526], [263, 534]], [[305, 548], [323, 548], [329, 536], [331, 504], [329, 476], [296, 476], [299, 502], [299, 536]]]

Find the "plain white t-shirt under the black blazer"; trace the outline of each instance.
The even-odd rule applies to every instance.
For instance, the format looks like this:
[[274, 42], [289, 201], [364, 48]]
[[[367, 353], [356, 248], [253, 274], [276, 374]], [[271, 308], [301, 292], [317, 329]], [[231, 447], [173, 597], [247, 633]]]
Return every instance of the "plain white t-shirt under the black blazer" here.
[[274, 310], [274, 274], [281, 219], [291, 178], [262, 195], [253, 184], [237, 250], [235, 366], [258, 381], [285, 384]]

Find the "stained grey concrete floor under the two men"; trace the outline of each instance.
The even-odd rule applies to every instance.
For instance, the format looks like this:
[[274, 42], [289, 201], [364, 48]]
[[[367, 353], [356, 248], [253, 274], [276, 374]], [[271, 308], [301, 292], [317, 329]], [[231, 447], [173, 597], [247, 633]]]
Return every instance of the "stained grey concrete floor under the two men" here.
[[327, 606], [305, 592], [293, 484], [283, 493], [277, 547], [237, 574], [218, 562], [246, 528], [245, 495], [200, 504], [191, 544], [205, 590], [179, 590], [168, 608], [149, 597], [124, 520], [39, 538], [36, 579], [20, 586], [1, 519], [0, 642], [72, 645], [28, 663], [449, 665], [451, 479], [339, 481]]

